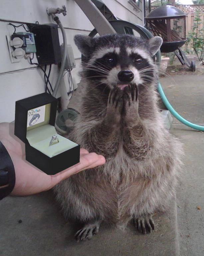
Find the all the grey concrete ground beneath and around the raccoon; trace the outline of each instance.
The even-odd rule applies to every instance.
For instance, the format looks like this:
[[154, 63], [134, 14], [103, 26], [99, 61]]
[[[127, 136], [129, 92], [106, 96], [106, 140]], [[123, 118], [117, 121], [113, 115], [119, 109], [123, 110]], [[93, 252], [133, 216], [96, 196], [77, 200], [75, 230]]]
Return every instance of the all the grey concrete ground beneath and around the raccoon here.
[[[175, 109], [204, 123], [204, 75], [161, 78]], [[125, 231], [103, 224], [91, 241], [77, 243], [78, 224], [66, 222], [51, 191], [0, 201], [2, 256], [203, 256], [204, 255], [204, 134], [174, 120], [171, 133], [184, 143], [184, 172], [165, 214], [154, 216], [151, 235], [139, 234], [133, 223]]]

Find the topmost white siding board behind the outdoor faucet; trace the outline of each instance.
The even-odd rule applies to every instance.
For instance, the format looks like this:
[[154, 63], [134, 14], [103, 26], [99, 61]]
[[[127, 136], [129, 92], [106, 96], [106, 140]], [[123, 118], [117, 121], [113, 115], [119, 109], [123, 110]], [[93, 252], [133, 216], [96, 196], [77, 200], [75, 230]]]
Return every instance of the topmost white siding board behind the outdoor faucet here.
[[64, 27], [92, 30], [93, 25], [74, 0], [1, 0], [0, 19], [41, 24], [55, 23], [46, 9], [66, 6], [67, 15], [60, 14]]

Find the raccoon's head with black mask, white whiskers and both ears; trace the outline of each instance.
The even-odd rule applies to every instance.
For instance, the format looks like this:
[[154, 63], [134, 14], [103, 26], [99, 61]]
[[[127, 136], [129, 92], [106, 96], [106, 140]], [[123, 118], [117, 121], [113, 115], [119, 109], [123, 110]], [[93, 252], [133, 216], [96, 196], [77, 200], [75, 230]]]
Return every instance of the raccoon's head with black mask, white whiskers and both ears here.
[[128, 84], [148, 85], [154, 77], [152, 56], [162, 44], [161, 37], [143, 41], [131, 35], [107, 35], [97, 38], [76, 35], [75, 43], [85, 56], [83, 76], [100, 88]]

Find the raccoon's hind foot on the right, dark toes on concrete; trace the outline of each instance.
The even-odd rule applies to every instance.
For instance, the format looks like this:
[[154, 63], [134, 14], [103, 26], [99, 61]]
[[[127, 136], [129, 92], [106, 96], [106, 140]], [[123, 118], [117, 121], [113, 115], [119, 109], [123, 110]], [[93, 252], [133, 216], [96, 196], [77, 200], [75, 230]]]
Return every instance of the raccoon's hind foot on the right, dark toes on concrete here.
[[146, 235], [146, 230], [148, 230], [149, 233], [151, 233], [152, 230], [154, 230], [154, 228], [155, 228], [154, 221], [152, 219], [152, 215], [139, 217], [135, 221], [137, 224], [137, 230], [140, 233], [143, 233], [145, 235]]

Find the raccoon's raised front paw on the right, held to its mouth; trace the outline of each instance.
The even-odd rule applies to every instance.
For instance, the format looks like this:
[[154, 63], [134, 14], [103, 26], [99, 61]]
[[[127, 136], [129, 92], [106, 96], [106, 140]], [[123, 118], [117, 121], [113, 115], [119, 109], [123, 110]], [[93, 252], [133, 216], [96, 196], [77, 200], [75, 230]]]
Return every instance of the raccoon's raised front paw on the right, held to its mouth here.
[[138, 87], [134, 84], [125, 87], [123, 92], [123, 114], [127, 122], [138, 119]]

